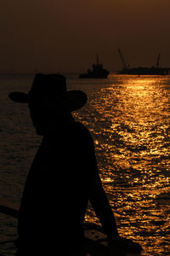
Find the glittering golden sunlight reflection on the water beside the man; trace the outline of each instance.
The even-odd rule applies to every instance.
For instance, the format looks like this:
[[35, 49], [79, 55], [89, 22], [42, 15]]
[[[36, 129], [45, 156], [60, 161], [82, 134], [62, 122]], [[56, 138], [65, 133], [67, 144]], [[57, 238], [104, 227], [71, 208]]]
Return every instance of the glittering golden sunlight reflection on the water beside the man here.
[[[170, 247], [168, 83], [120, 76], [90, 98], [96, 125], [89, 127], [119, 232], [149, 255], [168, 255]], [[91, 210], [87, 218], [98, 222]]]

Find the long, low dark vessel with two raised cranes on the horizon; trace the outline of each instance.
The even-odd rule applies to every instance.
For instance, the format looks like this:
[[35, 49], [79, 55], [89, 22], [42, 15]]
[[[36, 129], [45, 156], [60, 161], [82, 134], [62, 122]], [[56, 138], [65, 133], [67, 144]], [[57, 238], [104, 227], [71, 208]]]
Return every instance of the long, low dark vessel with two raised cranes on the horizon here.
[[157, 56], [156, 67], [127, 67], [126, 62], [122, 56], [122, 52], [118, 49], [118, 53], [121, 56], [123, 69], [119, 72], [120, 74], [129, 74], [129, 75], [168, 75], [170, 68], [168, 67], [159, 67], [160, 54]]

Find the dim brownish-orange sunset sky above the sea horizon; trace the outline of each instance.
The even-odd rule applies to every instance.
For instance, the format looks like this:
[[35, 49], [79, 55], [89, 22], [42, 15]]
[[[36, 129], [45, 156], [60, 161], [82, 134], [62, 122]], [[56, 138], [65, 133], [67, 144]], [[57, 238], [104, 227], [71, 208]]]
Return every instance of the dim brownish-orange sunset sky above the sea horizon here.
[[170, 0], [2, 0], [0, 73], [170, 67]]

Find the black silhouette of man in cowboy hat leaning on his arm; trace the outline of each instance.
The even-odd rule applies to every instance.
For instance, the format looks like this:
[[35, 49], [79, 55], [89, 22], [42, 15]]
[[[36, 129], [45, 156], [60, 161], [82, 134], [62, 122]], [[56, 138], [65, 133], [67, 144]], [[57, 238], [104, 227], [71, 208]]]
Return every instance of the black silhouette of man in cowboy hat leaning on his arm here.
[[37, 74], [28, 94], [14, 92], [9, 97], [28, 103], [33, 125], [43, 137], [20, 204], [16, 255], [82, 255], [88, 201], [110, 244], [125, 245], [99, 178], [94, 140], [71, 115], [87, 96], [67, 91], [61, 75]]

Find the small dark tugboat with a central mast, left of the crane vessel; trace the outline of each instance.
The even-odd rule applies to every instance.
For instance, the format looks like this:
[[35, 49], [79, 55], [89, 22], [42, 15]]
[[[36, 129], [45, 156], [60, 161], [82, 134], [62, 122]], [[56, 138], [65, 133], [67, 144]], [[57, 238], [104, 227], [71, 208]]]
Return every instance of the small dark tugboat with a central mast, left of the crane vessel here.
[[107, 79], [109, 71], [103, 68], [103, 64], [99, 63], [99, 55], [97, 55], [97, 61], [92, 66], [92, 70], [88, 69], [88, 73], [81, 73], [80, 79]]

